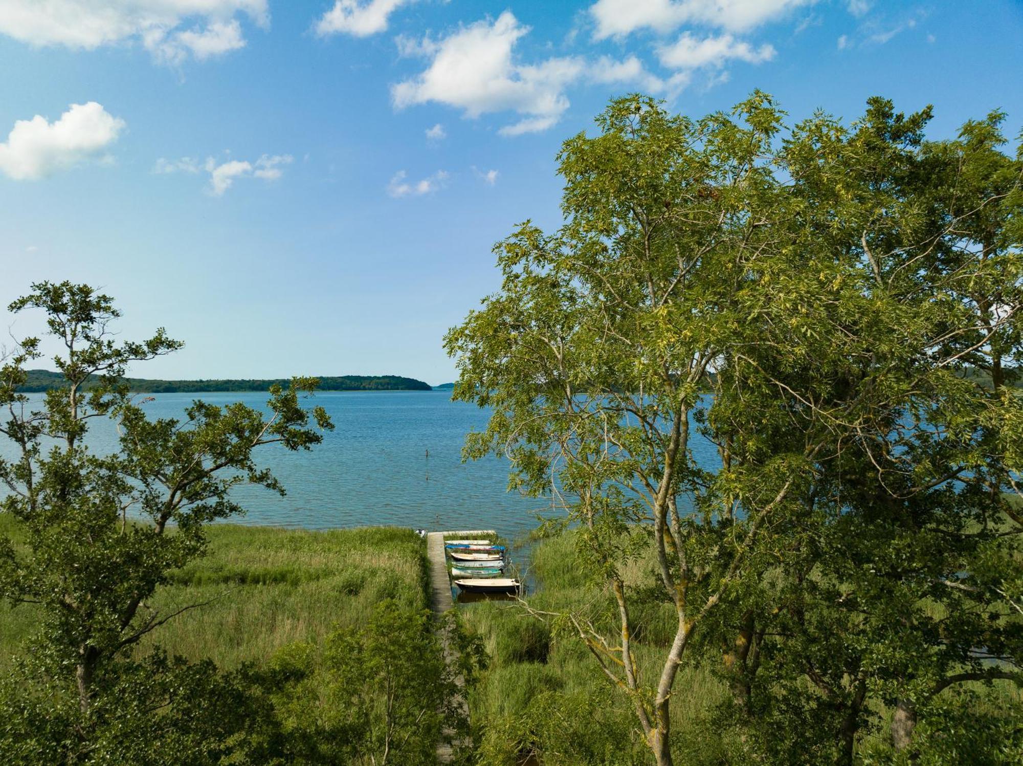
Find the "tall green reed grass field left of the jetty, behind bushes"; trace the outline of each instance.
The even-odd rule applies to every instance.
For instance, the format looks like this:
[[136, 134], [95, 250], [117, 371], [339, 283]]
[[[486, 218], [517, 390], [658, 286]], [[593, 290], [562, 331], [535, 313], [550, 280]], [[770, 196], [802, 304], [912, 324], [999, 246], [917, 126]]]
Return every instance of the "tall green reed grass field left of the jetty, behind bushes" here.
[[[16, 537], [0, 514], [0, 533]], [[338, 628], [364, 625], [374, 604], [393, 598], [426, 607], [426, 547], [411, 529], [366, 527], [306, 531], [238, 524], [209, 529], [209, 554], [174, 572], [152, 605], [171, 611], [211, 601], [149, 635], [160, 644], [223, 668], [259, 662], [295, 642], [316, 642]], [[37, 613], [0, 604], [0, 668], [24, 650]]]

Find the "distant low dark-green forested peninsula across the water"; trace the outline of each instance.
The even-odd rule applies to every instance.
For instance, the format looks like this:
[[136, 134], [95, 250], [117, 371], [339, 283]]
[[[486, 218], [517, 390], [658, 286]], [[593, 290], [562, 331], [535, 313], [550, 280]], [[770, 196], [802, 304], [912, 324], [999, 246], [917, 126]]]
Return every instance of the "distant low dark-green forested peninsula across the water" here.
[[[32, 393], [59, 388], [64, 384], [63, 375], [49, 370], [29, 370], [28, 380], [18, 391]], [[95, 378], [98, 380], [98, 378]], [[415, 378], [400, 375], [340, 375], [323, 376], [321, 391], [431, 391], [433, 387]], [[146, 378], [125, 378], [132, 391], [140, 393], [198, 393], [201, 391], [266, 391], [274, 383], [284, 387], [285, 378], [239, 379], [239, 380], [148, 380]]]

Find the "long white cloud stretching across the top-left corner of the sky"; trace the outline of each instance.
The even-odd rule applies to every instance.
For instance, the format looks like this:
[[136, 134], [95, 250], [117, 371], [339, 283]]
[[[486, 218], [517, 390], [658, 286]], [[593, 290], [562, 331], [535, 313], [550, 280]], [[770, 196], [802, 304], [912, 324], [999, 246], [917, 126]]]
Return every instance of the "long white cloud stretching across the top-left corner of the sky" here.
[[239, 13], [269, 24], [267, 0], [4, 0], [0, 34], [87, 50], [138, 39], [158, 59], [180, 63], [242, 47]]

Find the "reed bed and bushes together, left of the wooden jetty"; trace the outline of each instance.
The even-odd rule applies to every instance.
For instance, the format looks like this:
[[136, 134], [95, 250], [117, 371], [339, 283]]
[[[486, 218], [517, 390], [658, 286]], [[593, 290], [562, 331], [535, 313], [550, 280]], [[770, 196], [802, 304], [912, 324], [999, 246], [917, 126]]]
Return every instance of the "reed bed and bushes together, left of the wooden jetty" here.
[[[19, 524], [0, 521], [21, 540]], [[412, 530], [215, 525], [209, 536], [209, 554], [172, 572], [154, 603], [212, 603], [164, 626], [166, 651], [140, 642], [90, 720], [73, 685], [13, 664], [0, 682], [4, 763], [432, 763], [439, 727], [464, 731]], [[21, 639], [0, 651], [31, 656], [38, 619], [31, 605], [5, 612]], [[465, 649], [455, 672], [472, 683], [479, 653], [451, 631]], [[390, 718], [388, 678], [401, 680]], [[74, 750], [82, 727], [93, 732], [87, 753]]]

